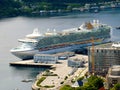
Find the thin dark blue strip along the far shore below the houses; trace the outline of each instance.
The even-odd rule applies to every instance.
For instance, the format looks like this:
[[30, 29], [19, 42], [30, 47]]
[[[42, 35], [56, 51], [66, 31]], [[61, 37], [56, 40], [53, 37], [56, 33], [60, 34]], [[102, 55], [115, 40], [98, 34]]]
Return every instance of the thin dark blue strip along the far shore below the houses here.
[[6, 18], [15, 18], [15, 17], [28, 17], [28, 18], [47, 18], [47, 17], [56, 17], [56, 16], [66, 16], [66, 15], [72, 15], [72, 14], [84, 14], [84, 13], [99, 13], [99, 12], [106, 12], [106, 11], [112, 11], [112, 10], [120, 10], [120, 7], [116, 8], [106, 8], [106, 9], [100, 9], [98, 12], [89, 12], [89, 11], [80, 11], [80, 10], [73, 10], [73, 11], [66, 11], [66, 12], [57, 12], [57, 13], [34, 13], [29, 15], [16, 15], [16, 16], [5, 16], [1, 17], [0, 20], [6, 19]]

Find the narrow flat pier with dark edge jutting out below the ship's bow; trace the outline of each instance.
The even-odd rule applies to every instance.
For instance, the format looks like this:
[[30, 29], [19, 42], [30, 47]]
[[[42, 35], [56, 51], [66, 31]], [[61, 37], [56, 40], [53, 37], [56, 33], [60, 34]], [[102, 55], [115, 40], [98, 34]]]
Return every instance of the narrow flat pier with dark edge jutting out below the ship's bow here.
[[45, 64], [45, 63], [34, 63], [33, 60], [26, 61], [16, 61], [9, 63], [10, 66], [25, 66], [25, 67], [52, 67], [53, 64]]

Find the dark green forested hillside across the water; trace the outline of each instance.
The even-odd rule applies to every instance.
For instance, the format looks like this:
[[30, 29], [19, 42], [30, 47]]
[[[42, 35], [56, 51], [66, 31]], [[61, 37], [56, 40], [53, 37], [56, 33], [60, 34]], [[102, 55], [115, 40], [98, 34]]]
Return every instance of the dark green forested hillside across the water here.
[[71, 10], [86, 3], [99, 3], [115, 0], [0, 0], [0, 18], [30, 16], [40, 10]]

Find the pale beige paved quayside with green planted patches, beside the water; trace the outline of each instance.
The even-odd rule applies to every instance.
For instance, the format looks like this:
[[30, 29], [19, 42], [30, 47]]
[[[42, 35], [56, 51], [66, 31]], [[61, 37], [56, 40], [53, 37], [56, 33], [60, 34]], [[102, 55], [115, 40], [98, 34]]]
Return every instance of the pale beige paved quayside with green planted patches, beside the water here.
[[[85, 61], [88, 60], [88, 57], [86, 55], [76, 55], [71, 58], [85, 58]], [[73, 68], [67, 66], [67, 61], [68, 60], [59, 60], [59, 62], [61, 63], [55, 64], [55, 68], [49, 70], [49, 72], [56, 74], [56, 76], [45, 76], [46, 79], [39, 84], [40, 87], [37, 86], [37, 82], [40, 78], [44, 76], [44, 73], [46, 72], [38, 74], [36, 76], [36, 81], [31, 86], [32, 90], [59, 90], [65, 84], [72, 85], [71, 80], [77, 78], [78, 76], [84, 76], [85, 73], [88, 71], [88, 63], [85, 64], [85, 67]], [[71, 72], [73, 73], [70, 74]]]

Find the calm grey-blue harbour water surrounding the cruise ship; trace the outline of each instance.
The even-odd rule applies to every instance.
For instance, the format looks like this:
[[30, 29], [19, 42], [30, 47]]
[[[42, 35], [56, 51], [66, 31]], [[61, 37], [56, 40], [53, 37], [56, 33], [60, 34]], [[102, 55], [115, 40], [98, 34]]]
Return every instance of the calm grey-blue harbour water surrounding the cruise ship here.
[[23, 38], [26, 34], [32, 33], [36, 27], [41, 33], [49, 28], [50, 31], [79, 27], [85, 21], [99, 19], [101, 22], [111, 25], [111, 39], [120, 41], [120, 10], [102, 11], [100, 13], [71, 14], [67, 16], [56, 16], [48, 18], [27, 18], [15, 17], [0, 20], [0, 90], [31, 90], [32, 82], [24, 83], [21, 80], [26, 78], [34, 79], [36, 75], [44, 71], [44, 68], [12, 67], [9, 62], [20, 61], [9, 50], [18, 46], [17, 39]]

